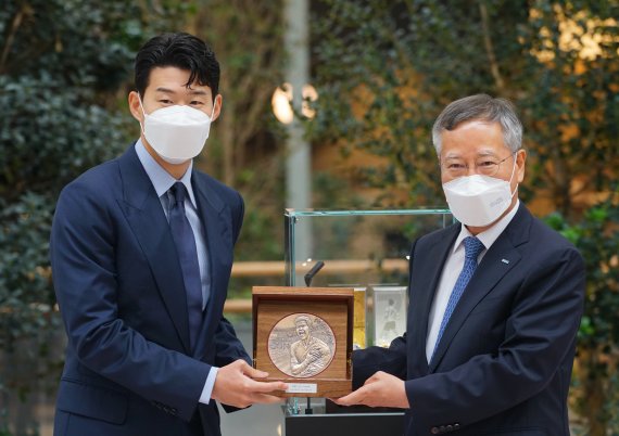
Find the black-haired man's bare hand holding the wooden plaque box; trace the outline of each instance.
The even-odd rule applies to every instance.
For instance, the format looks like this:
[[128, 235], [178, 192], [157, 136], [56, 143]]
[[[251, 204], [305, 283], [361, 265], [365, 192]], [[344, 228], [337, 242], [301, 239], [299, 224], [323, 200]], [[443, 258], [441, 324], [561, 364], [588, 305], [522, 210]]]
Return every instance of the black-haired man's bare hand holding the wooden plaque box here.
[[286, 390], [282, 382], [256, 382], [250, 377], [264, 379], [268, 373], [253, 369], [244, 360], [237, 360], [219, 368], [211, 398], [225, 405], [245, 408], [253, 403], [280, 402], [281, 398], [267, 395], [274, 390]]

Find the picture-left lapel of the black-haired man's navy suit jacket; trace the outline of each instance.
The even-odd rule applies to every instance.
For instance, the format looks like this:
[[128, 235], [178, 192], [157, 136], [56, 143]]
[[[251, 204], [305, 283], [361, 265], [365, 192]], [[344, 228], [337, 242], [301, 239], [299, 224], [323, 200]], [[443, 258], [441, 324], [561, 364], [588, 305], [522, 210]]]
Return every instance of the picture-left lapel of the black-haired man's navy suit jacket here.
[[179, 341], [185, 351], [189, 352], [189, 321], [182, 272], [161, 202], [134, 146], [121, 156], [119, 166], [123, 178], [119, 206], [148, 259]]

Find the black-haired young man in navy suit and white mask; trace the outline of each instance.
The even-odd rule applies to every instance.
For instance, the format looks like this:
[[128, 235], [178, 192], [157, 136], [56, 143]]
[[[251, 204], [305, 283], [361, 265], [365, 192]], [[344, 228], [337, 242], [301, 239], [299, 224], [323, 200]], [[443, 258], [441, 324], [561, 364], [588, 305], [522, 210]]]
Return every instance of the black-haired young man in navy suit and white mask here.
[[148, 41], [129, 108], [140, 138], [62, 192], [51, 236], [68, 336], [54, 435], [218, 435], [215, 400], [275, 402], [282, 383], [223, 318], [239, 193], [193, 168], [222, 110], [219, 65], [187, 34]]

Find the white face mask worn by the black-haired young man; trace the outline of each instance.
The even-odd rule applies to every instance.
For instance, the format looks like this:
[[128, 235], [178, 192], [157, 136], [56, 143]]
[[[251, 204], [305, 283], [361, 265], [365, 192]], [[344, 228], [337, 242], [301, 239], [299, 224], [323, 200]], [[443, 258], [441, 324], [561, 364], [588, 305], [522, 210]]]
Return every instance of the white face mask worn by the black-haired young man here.
[[209, 138], [215, 105], [211, 116], [190, 106], [167, 106], [144, 112], [142, 131], [149, 144], [169, 164], [182, 164], [198, 156]]

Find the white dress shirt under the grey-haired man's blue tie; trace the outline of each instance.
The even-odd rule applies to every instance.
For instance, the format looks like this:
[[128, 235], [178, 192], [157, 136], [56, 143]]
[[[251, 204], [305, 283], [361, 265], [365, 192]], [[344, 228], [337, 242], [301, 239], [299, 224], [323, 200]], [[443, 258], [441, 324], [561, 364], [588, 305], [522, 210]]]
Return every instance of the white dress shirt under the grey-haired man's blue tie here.
[[[509, 225], [518, 211], [520, 201], [517, 200], [516, 205], [511, 210], [509, 210], [509, 214], [501, 218], [501, 220], [496, 221], [496, 223], [490, 229], [477, 234], [477, 239], [484, 246], [484, 249], [481, 251], [480, 255], [477, 258], [478, 264], [485, 255], [485, 252], [488, 252], [492, 244], [494, 244], [494, 241], [496, 241], [501, 233], [503, 233], [507, 225]], [[447, 303], [450, 302], [452, 291], [454, 290], [456, 281], [458, 280], [458, 275], [460, 274], [460, 271], [464, 267], [465, 247], [463, 241], [467, 236], [472, 236], [472, 234], [468, 231], [466, 226], [462, 226], [460, 233], [458, 234], [458, 238], [456, 238], [454, 247], [445, 260], [441, 280], [439, 282], [439, 287], [434, 294], [434, 300], [432, 302], [432, 307], [430, 308], [430, 317], [428, 318], [428, 337], [426, 338], [426, 358], [428, 359], [428, 363], [430, 362], [432, 354], [434, 352], [434, 346], [437, 345], [441, 321], [445, 315], [445, 309], [447, 307]]]

